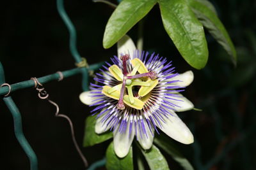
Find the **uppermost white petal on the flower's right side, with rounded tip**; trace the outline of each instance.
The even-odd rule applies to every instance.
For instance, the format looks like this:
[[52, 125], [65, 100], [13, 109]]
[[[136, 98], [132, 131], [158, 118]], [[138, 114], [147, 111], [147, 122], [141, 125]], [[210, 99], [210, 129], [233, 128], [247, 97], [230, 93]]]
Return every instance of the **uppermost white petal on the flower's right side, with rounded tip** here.
[[192, 71], [186, 71], [185, 73], [179, 74], [173, 78], [169, 78], [164, 81], [173, 81], [173, 80], [179, 80], [179, 81], [172, 83], [172, 85], [179, 85], [180, 87], [187, 87], [194, 80], [194, 74]]

